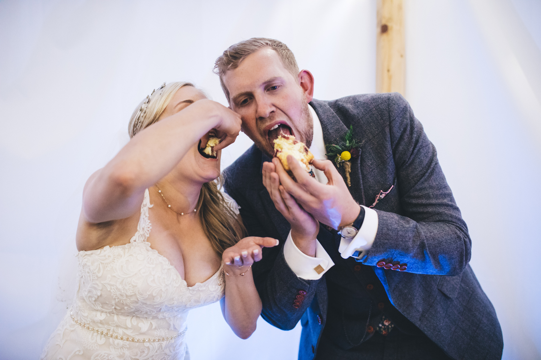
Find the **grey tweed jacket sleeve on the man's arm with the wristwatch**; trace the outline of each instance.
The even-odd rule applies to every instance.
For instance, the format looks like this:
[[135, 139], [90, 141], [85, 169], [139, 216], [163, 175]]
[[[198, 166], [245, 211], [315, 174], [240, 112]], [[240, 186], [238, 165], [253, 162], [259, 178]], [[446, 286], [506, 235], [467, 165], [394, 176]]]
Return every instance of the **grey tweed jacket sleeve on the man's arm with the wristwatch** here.
[[436, 148], [403, 97], [391, 94], [387, 105], [403, 215], [376, 210], [378, 232], [362, 262], [375, 266], [387, 260], [406, 263], [411, 273], [458, 275], [470, 261], [471, 239]]

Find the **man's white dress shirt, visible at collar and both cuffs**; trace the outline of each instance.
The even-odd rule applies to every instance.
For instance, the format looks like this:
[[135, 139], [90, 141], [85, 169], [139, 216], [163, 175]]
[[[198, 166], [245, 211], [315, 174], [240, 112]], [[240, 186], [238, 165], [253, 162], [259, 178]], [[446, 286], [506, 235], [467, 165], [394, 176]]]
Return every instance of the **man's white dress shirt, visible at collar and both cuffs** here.
[[[314, 154], [315, 159], [327, 160], [321, 122], [312, 106], [308, 106], [308, 108], [314, 121], [314, 137], [310, 152]], [[321, 184], [327, 184], [327, 177], [324, 172], [315, 167], [312, 167], [312, 170], [316, 180], [321, 182]], [[359, 259], [365, 256], [372, 247], [375, 235], [378, 232], [378, 213], [366, 206], [362, 207], [365, 209], [365, 219], [362, 222], [359, 232], [353, 238], [346, 239], [342, 237], [340, 241], [338, 251], [344, 259], [352, 255], [355, 255]], [[301, 279], [318, 280], [334, 265], [331, 256], [327, 254], [319, 241], [315, 240], [315, 242], [315, 257], [306, 255], [296, 247], [291, 237], [291, 231], [287, 236], [286, 242], [283, 244], [283, 256], [287, 264], [293, 270], [293, 273]]]

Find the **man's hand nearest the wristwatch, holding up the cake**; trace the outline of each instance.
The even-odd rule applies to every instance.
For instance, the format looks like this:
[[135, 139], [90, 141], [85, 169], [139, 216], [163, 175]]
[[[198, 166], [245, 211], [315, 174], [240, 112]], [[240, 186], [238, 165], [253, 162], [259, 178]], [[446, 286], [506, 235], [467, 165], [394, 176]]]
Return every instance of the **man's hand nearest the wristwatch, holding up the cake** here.
[[331, 161], [314, 159], [312, 162], [315, 168], [327, 176], [327, 185], [312, 178], [291, 155], [287, 157], [287, 164], [296, 182], [283, 169], [278, 158], [273, 159], [273, 164], [286, 192], [319, 222], [339, 229], [357, 219], [360, 207]]

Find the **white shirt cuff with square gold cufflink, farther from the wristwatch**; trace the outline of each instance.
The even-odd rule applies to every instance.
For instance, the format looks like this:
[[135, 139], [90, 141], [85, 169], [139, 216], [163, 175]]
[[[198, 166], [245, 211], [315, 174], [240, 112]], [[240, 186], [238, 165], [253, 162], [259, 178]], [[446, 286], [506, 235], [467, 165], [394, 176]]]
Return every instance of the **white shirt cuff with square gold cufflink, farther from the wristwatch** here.
[[315, 257], [301, 252], [291, 237], [291, 231], [283, 244], [283, 257], [296, 276], [305, 280], [318, 280], [334, 266], [331, 256], [327, 254], [318, 240], [315, 240]]

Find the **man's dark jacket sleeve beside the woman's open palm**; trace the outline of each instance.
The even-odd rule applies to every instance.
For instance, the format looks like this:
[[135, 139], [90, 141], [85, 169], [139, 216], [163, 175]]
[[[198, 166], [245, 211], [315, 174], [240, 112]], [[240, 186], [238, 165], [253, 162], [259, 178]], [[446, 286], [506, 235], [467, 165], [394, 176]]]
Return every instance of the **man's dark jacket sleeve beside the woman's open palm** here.
[[249, 236], [272, 236], [280, 240], [279, 246], [263, 248], [262, 260], [252, 266], [255, 286], [262, 302], [261, 317], [281, 330], [291, 330], [311, 304], [316, 288], [324, 277], [305, 280], [297, 277], [283, 256], [283, 244], [278, 233], [272, 232], [256, 216], [250, 202], [240, 191], [225, 184], [226, 191], [240, 206], [240, 214]]

